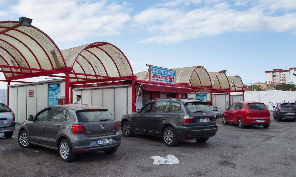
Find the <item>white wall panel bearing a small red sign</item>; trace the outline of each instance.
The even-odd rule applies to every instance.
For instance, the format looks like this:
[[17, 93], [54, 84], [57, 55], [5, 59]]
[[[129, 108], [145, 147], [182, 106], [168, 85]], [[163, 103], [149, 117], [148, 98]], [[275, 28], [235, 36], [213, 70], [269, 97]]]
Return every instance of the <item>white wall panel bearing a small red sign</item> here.
[[[33, 90], [33, 96], [29, 97], [29, 90]], [[27, 116], [35, 115], [37, 112], [37, 86], [27, 86]]]

